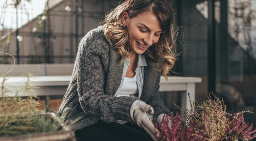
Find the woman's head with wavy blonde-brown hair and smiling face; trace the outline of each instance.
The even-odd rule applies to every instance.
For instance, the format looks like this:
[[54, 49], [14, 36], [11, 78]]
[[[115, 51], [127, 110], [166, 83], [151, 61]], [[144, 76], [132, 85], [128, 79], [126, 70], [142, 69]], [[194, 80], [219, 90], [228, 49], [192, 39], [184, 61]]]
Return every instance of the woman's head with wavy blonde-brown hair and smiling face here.
[[131, 50], [137, 54], [145, 52], [153, 66], [162, 61], [161, 72], [167, 79], [176, 59], [172, 48], [175, 46], [175, 31], [178, 31], [175, 30], [175, 16], [169, 2], [126, 0], [106, 16], [102, 25], [106, 39], [122, 60]]

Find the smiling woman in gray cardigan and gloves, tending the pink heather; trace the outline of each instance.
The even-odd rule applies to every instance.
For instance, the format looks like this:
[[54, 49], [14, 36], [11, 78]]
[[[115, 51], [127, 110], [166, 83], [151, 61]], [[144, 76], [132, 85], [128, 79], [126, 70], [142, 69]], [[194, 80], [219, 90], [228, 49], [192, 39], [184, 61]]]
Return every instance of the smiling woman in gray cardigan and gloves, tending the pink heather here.
[[153, 118], [170, 114], [159, 98], [175, 56], [167, 0], [126, 0], [81, 40], [59, 113], [78, 140], [149, 141]]

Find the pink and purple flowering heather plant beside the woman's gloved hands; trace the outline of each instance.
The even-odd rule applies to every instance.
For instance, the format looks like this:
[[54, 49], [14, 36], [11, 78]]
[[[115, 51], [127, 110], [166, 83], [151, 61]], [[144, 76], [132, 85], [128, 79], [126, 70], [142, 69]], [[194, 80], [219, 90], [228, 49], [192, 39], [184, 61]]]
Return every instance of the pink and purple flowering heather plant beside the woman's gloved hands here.
[[[188, 94], [189, 95], [189, 94]], [[242, 111], [234, 114], [226, 112], [226, 105], [214, 94], [213, 99], [209, 94], [208, 100], [202, 104], [190, 100], [191, 109], [178, 107], [178, 113], [171, 115], [171, 127], [168, 126], [168, 118], [165, 116], [161, 122], [154, 124], [160, 134], [159, 141], [223, 141], [242, 139], [248, 141], [256, 137], [253, 125], [244, 121]], [[250, 112], [251, 113], [251, 112]]]

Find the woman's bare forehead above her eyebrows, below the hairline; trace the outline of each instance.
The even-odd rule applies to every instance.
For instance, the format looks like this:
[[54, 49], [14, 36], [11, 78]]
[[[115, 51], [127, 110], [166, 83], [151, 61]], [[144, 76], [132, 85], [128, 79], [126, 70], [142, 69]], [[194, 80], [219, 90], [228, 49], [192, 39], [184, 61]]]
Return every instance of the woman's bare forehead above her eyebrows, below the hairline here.
[[[156, 15], [152, 12], [145, 12], [138, 14], [138, 16], [134, 17], [132, 20], [134, 20], [135, 23], [142, 23], [145, 24], [150, 30], [152, 31], [161, 31], [160, 22], [157, 19]], [[140, 24], [138, 24], [140, 25]]]

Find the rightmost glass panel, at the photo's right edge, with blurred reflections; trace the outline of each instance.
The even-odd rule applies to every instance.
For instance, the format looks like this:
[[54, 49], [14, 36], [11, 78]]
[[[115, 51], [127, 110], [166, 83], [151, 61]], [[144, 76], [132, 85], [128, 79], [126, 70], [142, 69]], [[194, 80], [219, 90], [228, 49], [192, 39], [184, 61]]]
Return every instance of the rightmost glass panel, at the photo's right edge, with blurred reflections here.
[[[256, 106], [256, 1], [228, 0], [229, 89], [234, 111]], [[246, 114], [250, 122], [255, 114]], [[255, 128], [255, 125], [254, 125]]]

